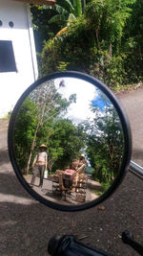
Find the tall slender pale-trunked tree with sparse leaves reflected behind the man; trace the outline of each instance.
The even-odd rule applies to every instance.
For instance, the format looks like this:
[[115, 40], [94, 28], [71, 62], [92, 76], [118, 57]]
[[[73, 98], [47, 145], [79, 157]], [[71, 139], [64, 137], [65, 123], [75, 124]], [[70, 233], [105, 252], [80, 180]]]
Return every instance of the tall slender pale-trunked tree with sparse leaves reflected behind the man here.
[[66, 108], [71, 104], [72, 100], [74, 100], [73, 97], [69, 102], [66, 99], [62, 100], [62, 97], [58, 93], [58, 90], [62, 86], [65, 86], [64, 82], [61, 83], [60, 81], [58, 88], [55, 88], [54, 81], [48, 81], [38, 86], [31, 92], [30, 98], [35, 103], [37, 108], [37, 125], [35, 127], [33, 140], [31, 143], [27, 175], [30, 169], [31, 155], [36, 144], [37, 133], [39, 128], [43, 126], [44, 120], [57, 116], [61, 111], [66, 110]]

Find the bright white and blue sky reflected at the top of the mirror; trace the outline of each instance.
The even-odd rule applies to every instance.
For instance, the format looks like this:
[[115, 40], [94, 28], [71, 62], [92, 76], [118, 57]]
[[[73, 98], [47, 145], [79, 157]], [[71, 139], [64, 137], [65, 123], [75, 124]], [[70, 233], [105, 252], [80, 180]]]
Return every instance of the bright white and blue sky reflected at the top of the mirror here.
[[[64, 86], [59, 88], [61, 81], [64, 81]], [[93, 120], [95, 113], [93, 113], [92, 107], [98, 107], [98, 110], [102, 114], [105, 106], [111, 105], [105, 94], [89, 81], [62, 78], [56, 79], [54, 84], [58, 88], [58, 92], [62, 95], [62, 98], [69, 100], [72, 94], [76, 94], [76, 103], [72, 103], [69, 106], [65, 116], [75, 124], [79, 124], [85, 120]]]

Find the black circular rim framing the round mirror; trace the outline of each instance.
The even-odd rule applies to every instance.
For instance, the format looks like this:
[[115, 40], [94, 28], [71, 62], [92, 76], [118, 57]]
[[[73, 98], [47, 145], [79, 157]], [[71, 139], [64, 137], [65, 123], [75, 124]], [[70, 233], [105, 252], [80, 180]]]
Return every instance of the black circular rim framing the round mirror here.
[[[34, 192], [31, 189], [31, 186], [27, 183], [27, 181], [24, 179], [24, 177], [21, 175], [19, 171], [18, 165], [16, 163], [15, 155], [14, 155], [14, 148], [13, 148], [14, 124], [15, 124], [17, 113], [19, 111], [19, 107], [22, 105], [23, 101], [31, 93], [31, 91], [41, 83], [45, 81], [51, 81], [57, 78], [63, 78], [63, 77], [76, 78], [76, 79], [91, 82], [93, 85], [99, 88], [102, 92], [104, 92], [105, 95], [110, 99], [110, 101], [112, 102], [112, 105], [114, 105], [114, 108], [118, 113], [118, 116], [120, 118], [120, 122], [122, 125], [122, 129], [123, 129], [123, 134], [124, 134], [124, 155], [122, 159], [122, 164], [121, 164], [119, 174], [116, 176], [116, 178], [112, 182], [112, 186], [101, 197], [96, 198], [95, 200], [92, 200], [90, 202], [87, 202], [81, 205], [74, 205], [74, 206], [61, 205], [61, 204], [54, 203], [46, 198], [42, 198], [36, 192]], [[31, 86], [22, 94], [22, 96], [14, 106], [10, 116], [10, 125], [8, 130], [8, 148], [9, 148], [10, 162], [15, 172], [15, 175], [19, 179], [20, 183], [24, 186], [24, 188], [31, 194], [31, 197], [35, 198], [36, 200], [40, 201], [41, 203], [53, 209], [72, 212], [72, 211], [80, 211], [80, 210], [91, 208], [97, 205], [98, 203], [101, 203], [103, 200], [109, 198], [112, 195], [112, 193], [121, 183], [124, 175], [127, 173], [127, 170], [129, 169], [131, 153], [132, 153], [132, 135], [131, 135], [130, 123], [125, 112], [123, 111], [121, 105], [113, 95], [112, 91], [103, 82], [98, 81], [97, 79], [92, 78], [91, 76], [80, 73], [80, 72], [65, 71], [65, 72], [57, 72], [57, 73], [50, 74], [42, 79], [39, 79], [33, 82]]]

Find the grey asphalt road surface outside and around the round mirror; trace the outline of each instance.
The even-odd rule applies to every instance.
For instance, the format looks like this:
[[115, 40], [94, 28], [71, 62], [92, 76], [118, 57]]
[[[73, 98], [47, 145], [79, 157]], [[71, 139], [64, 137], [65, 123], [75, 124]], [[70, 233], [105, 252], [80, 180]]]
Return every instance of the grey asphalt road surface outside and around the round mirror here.
[[[136, 95], [138, 92], [134, 93]], [[142, 143], [135, 148], [135, 134], [138, 136], [141, 133], [137, 131], [138, 121], [134, 121], [138, 120], [137, 116], [143, 109], [138, 110], [142, 101], [137, 106], [138, 100], [131, 103], [133, 100], [128, 101], [129, 95], [118, 97], [127, 106], [129, 116], [133, 116], [134, 107], [137, 109], [131, 119], [133, 151], [139, 149], [139, 155], [142, 155]], [[85, 212], [57, 212], [31, 198], [16, 179], [7, 151], [7, 123], [0, 126], [0, 139], [0, 255], [48, 255], [47, 244], [54, 234], [73, 234], [78, 238], [87, 236], [84, 243], [107, 250], [115, 256], [138, 255], [121, 242], [120, 235], [123, 230], [129, 229], [134, 238], [143, 244], [141, 179], [128, 173], [112, 197], [101, 204], [105, 206], [103, 211], [94, 207]], [[138, 136], [138, 141], [141, 140], [142, 137]]]

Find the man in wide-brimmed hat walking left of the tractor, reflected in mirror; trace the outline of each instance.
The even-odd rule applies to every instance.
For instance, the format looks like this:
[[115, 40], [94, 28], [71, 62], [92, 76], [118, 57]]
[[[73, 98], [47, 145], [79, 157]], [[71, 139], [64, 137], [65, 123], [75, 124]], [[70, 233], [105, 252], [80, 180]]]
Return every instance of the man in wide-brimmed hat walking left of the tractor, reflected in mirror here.
[[42, 188], [44, 172], [45, 170], [47, 170], [47, 163], [48, 163], [47, 146], [42, 144], [39, 147], [39, 152], [36, 153], [33, 159], [33, 163], [32, 163], [33, 175], [31, 178], [31, 185], [34, 185], [36, 176], [40, 174], [39, 187]]

